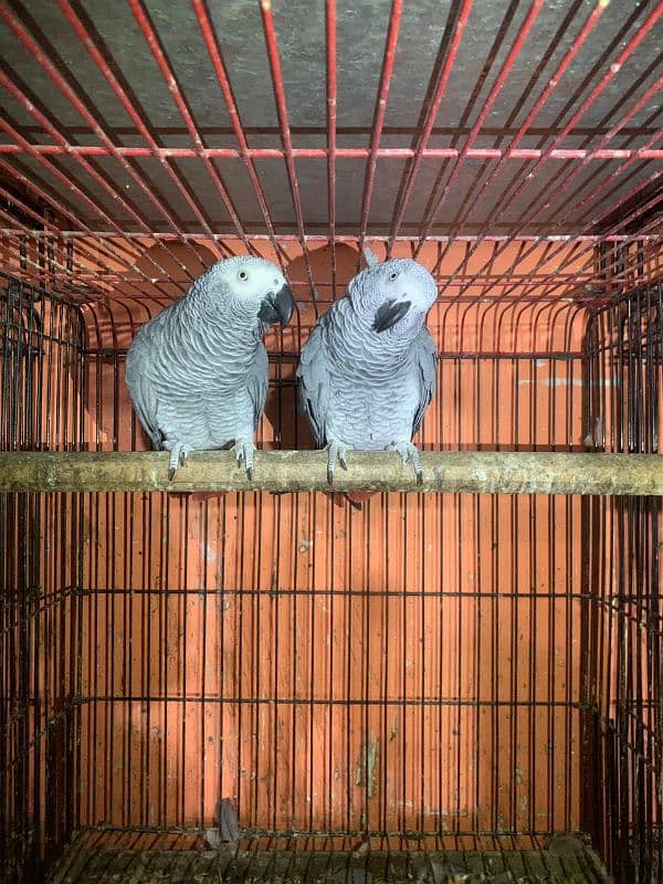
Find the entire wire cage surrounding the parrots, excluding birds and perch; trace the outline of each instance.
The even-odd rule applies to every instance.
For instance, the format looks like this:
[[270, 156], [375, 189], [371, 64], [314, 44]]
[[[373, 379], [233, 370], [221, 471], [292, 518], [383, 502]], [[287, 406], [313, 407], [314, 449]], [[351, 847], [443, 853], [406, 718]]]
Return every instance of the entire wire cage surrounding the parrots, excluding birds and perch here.
[[[298, 306], [259, 445], [312, 448], [298, 354], [370, 245], [439, 283], [424, 449], [657, 453], [662, 15], [10, 0], [0, 448], [147, 449], [134, 334], [246, 252]], [[659, 526], [0, 495], [4, 878], [660, 881]]]

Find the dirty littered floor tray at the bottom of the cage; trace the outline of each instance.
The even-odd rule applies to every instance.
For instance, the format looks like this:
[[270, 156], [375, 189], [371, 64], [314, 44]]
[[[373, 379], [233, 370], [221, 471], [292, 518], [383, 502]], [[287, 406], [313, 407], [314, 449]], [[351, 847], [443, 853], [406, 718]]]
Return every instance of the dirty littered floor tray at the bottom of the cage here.
[[108, 846], [83, 836], [52, 884], [607, 884], [597, 855], [573, 840], [557, 850], [298, 850], [242, 841], [230, 850]]

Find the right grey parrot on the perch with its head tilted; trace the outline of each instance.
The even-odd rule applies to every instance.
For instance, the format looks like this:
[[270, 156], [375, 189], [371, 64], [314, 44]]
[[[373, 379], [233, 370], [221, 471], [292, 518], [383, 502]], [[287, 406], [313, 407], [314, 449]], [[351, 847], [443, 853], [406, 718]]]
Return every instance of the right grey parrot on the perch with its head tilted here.
[[329, 482], [349, 450], [387, 449], [421, 483], [412, 436], [435, 389], [435, 345], [424, 323], [438, 290], [415, 261], [367, 262], [302, 349], [299, 403], [318, 448], [328, 449]]

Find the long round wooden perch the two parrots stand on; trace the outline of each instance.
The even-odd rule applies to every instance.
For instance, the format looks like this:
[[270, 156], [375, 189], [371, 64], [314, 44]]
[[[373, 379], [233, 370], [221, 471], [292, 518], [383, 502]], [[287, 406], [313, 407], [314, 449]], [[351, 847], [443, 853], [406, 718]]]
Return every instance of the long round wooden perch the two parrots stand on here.
[[398, 454], [350, 452], [327, 484], [319, 451], [257, 452], [253, 482], [227, 451], [196, 452], [168, 481], [167, 452], [0, 452], [2, 492], [465, 492], [663, 495], [657, 454], [422, 452], [423, 485]]

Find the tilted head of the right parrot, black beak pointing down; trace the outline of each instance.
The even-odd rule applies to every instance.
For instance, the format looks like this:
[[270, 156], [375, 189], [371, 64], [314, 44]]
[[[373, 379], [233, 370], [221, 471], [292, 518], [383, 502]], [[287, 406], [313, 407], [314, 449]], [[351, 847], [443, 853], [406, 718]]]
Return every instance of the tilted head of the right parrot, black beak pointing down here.
[[359, 273], [352, 285], [352, 301], [359, 299], [372, 314], [372, 330], [381, 335], [419, 328], [438, 297], [435, 281], [425, 267], [409, 259], [373, 264]]

